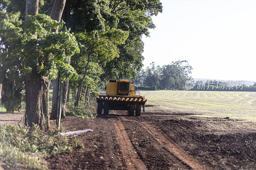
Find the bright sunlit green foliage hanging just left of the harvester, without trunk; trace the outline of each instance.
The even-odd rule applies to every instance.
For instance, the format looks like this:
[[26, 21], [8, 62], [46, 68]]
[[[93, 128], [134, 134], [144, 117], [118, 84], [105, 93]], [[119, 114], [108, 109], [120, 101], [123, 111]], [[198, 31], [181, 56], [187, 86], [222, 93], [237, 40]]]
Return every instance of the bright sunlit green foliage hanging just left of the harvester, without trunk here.
[[79, 77], [77, 81], [71, 81], [79, 87], [83, 81], [83, 87], [87, 86], [91, 92], [98, 91], [102, 67], [113, 58], [119, 57], [117, 45], [124, 44], [128, 32], [120, 29], [106, 30], [97, 36], [91, 33], [76, 33], [80, 53], [72, 57], [71, 64], [76, 69]]

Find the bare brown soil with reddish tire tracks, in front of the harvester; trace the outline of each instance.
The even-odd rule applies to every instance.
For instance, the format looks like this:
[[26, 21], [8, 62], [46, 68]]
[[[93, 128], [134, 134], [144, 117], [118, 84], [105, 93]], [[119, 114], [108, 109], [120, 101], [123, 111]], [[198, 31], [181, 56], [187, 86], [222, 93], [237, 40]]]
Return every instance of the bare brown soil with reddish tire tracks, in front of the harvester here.
[[49, 169], [256, 169], [256, 122], [156, 110], [67, 116], [61, 125], [93, 131], [69, 136], [83, 149], [45, 156]]

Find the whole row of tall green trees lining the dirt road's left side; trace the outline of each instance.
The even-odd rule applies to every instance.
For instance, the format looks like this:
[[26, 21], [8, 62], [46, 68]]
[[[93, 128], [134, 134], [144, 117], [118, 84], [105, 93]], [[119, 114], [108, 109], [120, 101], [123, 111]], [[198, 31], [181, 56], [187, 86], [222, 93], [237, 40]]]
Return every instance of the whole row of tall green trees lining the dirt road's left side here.
[[61, 117], [67, 105], [70, 114], [93, 117], [90, 108], [81, 110], [83, 100], [95, 98], [110, 79], [135, 79], [143, 66], [142, 37], [156, 27], [152, 16], [162, 10], [160, 0], [1, 1], [0, 84], [6, 112], [30, 108], [24, 124], [49, 129], [49, 122], [39, 122], [48, 120], [49, 107], [50, 119], [56, 119], [58, 90], [51, 95], [49, 85], [58, 89], [61, 79]]

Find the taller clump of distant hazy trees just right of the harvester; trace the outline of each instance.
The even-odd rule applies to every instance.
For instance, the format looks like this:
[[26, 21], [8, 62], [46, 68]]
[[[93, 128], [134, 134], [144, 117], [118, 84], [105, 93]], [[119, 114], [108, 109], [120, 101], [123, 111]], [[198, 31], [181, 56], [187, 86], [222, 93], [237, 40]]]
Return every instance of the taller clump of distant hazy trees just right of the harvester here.
[[151, 63], [137, 74], [134, 83], [139, 90], [184, 90], [192, 67], [187, 61], [177, 61], [164, 66]]

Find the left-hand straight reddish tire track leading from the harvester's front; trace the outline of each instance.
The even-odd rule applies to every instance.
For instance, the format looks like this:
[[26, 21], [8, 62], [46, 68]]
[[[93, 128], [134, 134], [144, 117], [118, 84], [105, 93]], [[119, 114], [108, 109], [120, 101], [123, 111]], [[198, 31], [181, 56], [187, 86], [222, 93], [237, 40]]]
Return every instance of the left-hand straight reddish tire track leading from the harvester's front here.
[[124, 124], [121, 121], [115, 121], [110, 119], [112, 122], [115, 132], [116, 132], [116, 139], [121, 147], [122, 154], [124, 157], [125, 167], [124, 169], [147, 169], [145, 164], [140, 160], [137, 152], [132, 146], [132, 143], [125, 131]]

